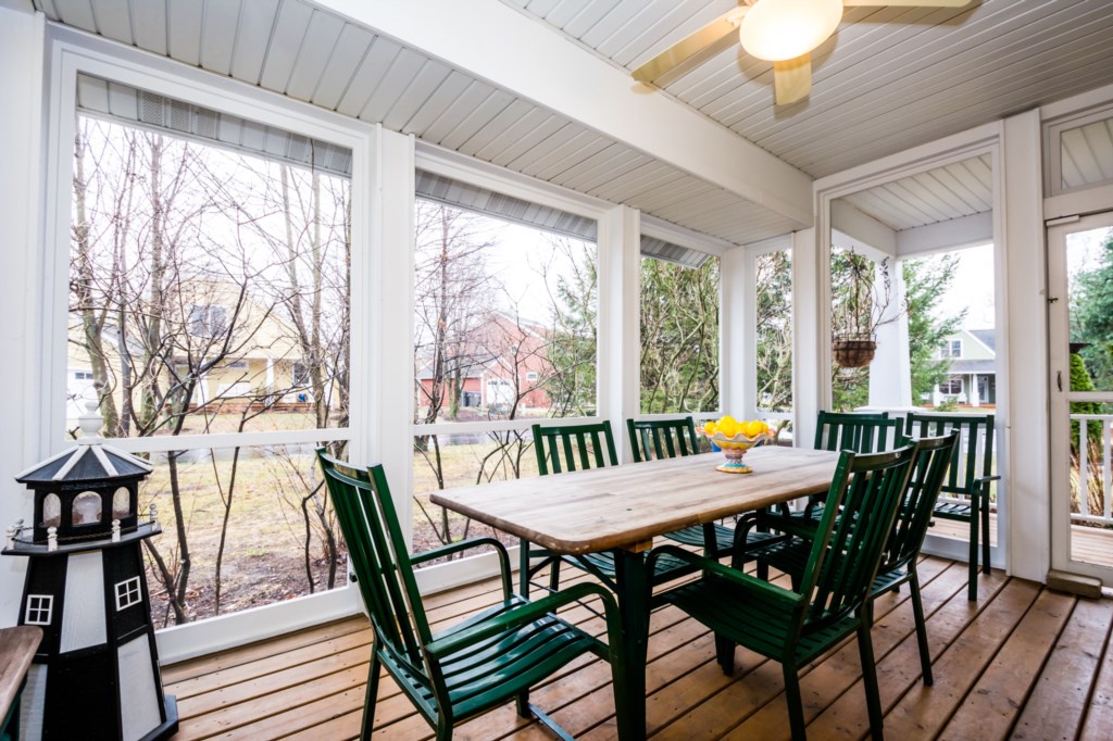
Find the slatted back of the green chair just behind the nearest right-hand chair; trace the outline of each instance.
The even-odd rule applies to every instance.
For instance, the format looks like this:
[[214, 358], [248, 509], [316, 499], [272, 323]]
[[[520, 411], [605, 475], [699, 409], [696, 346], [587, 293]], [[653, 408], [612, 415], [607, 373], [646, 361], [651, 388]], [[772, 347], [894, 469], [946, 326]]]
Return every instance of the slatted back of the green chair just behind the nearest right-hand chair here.
[[904, 569], [919, 555], [927, 528], [932, 525], [932, 513], [939, 498], [939, 488], [951, 465], [954, 448], [958, 445], [958, 433], [924, 437], [918, 443], [916, 464], [908, 480], [908, 493], [897, 511], [878, 573]]

